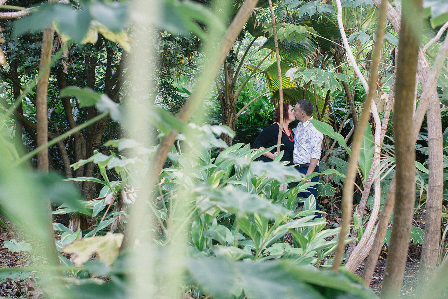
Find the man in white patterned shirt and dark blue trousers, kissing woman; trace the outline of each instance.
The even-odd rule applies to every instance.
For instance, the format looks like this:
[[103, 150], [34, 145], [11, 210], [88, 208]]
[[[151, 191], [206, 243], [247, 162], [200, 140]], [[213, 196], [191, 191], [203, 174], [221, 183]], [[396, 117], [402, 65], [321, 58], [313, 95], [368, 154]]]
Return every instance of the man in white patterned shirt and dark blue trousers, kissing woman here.
[[[297, 164], [296, 169], [305, 175], [313, 172], [319, 173], [320, 153], [322, 152], [323, 134], [311, 124], [313, 119], [313, 104], [309, 100], [297, 101], [295, 106], [296, 118], [299, 121], [297, 127], [293, 129], [295, 134], [293, 163]], [[308, 182], [318, 182], [319, 176], [311, 178]], [[317, 200], [317, 190], [313, 187], [300, 192], [298, 197], [308, 197], [310, 193], [316, 199], [316, 209], [319, 210]], [[316, 213], [320, 217], [320, 213]]]

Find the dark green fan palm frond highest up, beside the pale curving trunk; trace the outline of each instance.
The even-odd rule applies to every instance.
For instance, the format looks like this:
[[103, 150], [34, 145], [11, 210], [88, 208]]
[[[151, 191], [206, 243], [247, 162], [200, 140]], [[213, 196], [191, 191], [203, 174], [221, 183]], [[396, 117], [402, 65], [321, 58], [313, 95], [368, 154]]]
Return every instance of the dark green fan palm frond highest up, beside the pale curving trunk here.
[[327, 17], [314, 16], [300, 22], [300, 25], [313, 27], [313, 29], [320, 35], [316, 36], [314, 43], [317, 43], [317, 45], [326, 51], [329, 51], [332, 48], [331, 40], [336, 41], [336, 39], [340, 38], [339, 27], [333, 20]]

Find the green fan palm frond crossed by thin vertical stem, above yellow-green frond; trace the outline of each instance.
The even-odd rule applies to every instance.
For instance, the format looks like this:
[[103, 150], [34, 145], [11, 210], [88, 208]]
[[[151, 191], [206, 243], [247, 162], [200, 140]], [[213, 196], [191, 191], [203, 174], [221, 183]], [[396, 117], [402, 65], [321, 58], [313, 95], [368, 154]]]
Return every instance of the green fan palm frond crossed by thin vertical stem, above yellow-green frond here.
[[[314, 52], [314, 44], [308, 38], [305, 38], [304, 40], [300, 40], [298, 42], [296, 42], [295, 38], [292, 39], [291, 42], [288, 42], [288, 40], [284, 39], [283, 41], [279, 41], [278, 45], [279, 54], [286, 61], [300, 61], [303, 57], [308, 56], [310, 53]], [[261, 45], [261, 48], [273, 50], [275, 48], [274, 37], [266, 39]]]

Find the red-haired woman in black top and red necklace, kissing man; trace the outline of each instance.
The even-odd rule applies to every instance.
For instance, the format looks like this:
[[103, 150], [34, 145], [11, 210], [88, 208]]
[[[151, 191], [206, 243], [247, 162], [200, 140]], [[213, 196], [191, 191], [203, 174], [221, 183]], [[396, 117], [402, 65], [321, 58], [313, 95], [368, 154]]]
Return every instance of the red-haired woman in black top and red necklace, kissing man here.
[[[283, 134], [281, 136], [281, 142], [283, 145], [280, 146], [280, 151], [284, 151], [281, 161], [293, 161], [293, 151], [294, 151], [294, 133], [289, 129], [289, 123], [296, 119], [296, 112], [294, 111], [293, 105], [289, 103], [283, 104]], [[280, 106], [277, 106], [274, 113], [274, 121], [272, 125], [267, 126], [258, 135], [254, 142], [254, 148], [268, 148], [277, 144], [277, 138], [279, 134], [280, 127]], [[276, 148], [272, 149], [271, 152], [267, 152], [260, 156], [258, 160], [264, 162], [270, 162], [277, 156]]]

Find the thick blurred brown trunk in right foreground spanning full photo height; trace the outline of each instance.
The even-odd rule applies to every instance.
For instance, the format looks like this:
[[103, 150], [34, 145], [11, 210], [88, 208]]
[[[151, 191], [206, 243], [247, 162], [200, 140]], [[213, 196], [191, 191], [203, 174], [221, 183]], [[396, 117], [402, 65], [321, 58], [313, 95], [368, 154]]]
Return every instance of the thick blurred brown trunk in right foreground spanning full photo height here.
[[403, 282], [409, 234], [415, 202], [415, 150], [413, 104], [418, 50], [421, 40], [422, 0], [402, 7], [396, 74], [394, 138], [396, 153], [396, 199], [391, 241], [380, 298], [396, 298]]

